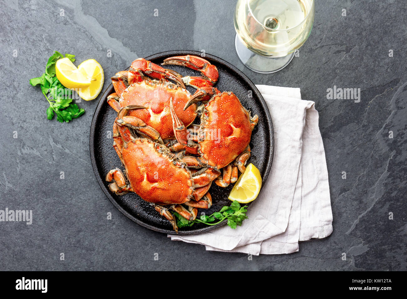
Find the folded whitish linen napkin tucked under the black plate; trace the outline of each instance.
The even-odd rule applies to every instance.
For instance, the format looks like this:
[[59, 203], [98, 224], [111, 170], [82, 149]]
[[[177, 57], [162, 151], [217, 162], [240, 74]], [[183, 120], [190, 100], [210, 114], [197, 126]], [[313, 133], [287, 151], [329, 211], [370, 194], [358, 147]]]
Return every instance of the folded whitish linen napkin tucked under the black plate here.
[[253, 255], [292, 253], [298, 241], [332, 233], [332, 210], [324, 145], [314, 102], [299, 88], [256, 85], [274, 125], [274, 158], [269, 177], [247, 210], [242, 226], [223, 226], [171, 240], [205, 245], [206, 250]]

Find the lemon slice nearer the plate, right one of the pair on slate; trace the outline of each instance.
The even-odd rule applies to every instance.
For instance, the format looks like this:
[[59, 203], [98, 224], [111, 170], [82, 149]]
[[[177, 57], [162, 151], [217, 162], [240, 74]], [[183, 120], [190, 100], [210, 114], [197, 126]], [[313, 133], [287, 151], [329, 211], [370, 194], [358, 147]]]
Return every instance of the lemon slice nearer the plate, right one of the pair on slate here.
[[78, 70], [88, 79], [90, 79], [90, 85], [88, 87], [82, 87], [78, 90], [78, 94], [84, 100], [93, 100], [100, 94], [105, 76], [103, 74], [102, 66], [94, 59], [88, 59], [83, 61]]

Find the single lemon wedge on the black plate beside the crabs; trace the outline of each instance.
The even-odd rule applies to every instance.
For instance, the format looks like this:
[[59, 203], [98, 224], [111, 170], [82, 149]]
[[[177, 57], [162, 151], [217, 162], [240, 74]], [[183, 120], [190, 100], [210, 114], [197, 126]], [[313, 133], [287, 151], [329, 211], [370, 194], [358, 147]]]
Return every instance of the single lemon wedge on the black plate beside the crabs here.
[[230, 191], [229, 199], [239, 203], [254, 201], [260, 192], [260, 171], [252, 163], [247, 165], [245, 173], [242, 173]]

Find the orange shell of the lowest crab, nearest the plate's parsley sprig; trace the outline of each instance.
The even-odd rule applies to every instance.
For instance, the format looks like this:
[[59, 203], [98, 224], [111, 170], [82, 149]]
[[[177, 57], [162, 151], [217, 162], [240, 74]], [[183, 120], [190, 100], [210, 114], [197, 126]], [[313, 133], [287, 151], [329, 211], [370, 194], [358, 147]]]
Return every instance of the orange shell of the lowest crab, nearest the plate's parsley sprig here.
[[123, 147], [122, 155], [131, 188], [145, 201], [168, 205], [190, 200], [191, 172], [164, 146], [136, 138]]

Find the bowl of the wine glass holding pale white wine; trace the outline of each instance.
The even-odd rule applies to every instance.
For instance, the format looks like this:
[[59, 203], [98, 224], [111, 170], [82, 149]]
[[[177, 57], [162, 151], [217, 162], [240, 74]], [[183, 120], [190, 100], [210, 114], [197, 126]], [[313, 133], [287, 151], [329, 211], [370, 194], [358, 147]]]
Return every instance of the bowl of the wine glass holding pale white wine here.
[[234, 26], [253, 52], [284, 57], [308, 38], [313, 9], [314, 0], [238, 0]]

